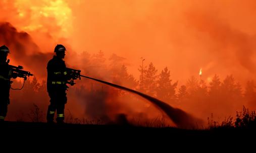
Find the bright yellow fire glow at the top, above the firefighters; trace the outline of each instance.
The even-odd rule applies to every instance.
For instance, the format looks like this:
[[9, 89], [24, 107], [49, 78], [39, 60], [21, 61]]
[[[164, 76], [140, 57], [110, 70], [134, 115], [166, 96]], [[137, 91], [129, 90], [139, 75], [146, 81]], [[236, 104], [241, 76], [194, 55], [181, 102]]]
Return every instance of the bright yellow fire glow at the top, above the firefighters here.
[[15, 7], [19, 20], [24, 21], [21, 30], [49, 32], [57, 38], [71, 35], [72, 10], [66, 1], [17, 0]]

